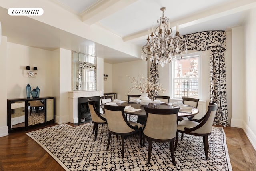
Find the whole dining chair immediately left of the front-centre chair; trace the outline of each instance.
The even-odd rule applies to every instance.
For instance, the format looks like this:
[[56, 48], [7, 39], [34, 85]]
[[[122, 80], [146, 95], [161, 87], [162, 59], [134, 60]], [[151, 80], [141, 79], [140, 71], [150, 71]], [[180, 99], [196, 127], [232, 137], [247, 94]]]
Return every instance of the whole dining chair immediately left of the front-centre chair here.
[[109, 149], [111, 135], [120, 135], [122, 138], [122, 158], [124, 158], [124, 137], [139, 133], [140, 146], [142, 147], [142, 125], [137, 122], [127, 121], [124, 114], [125, 106], [104, 105], [108, 122], [108, 146]]

